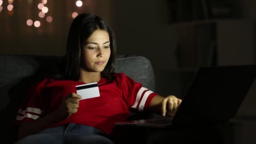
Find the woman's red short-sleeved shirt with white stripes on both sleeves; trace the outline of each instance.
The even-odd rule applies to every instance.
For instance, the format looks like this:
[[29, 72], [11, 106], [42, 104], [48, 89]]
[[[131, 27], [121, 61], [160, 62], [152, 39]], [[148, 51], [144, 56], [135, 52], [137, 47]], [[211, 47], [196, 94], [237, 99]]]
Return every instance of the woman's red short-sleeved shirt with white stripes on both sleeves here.
[[[144, 88], [123, 73], [114, 74], [109, 83], [105, 78], [98, 82], [100, 96], [79, 101], [78, 111], [67, 119], [49, 125], [57, 127], [68, 123], [89, 125], [110, 134], [115, 122], [126, 120], [130, 108], [143, 111], [156, 93]], [[69, 93], [76, 93], [76, 85], [85, 83], [72, 80], [45, 79], [27, 93], [15, 124], [33, 121], [55, 111]]]

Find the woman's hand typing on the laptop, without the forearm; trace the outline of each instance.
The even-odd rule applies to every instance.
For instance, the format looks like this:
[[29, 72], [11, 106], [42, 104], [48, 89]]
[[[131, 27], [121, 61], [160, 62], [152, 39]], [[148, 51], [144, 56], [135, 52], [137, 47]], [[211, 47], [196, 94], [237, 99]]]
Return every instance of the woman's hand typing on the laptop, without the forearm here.
[[162, 101], [162, 115], [173, 117], [181, 104], [181, 99], [176, 96], [166, 96]]

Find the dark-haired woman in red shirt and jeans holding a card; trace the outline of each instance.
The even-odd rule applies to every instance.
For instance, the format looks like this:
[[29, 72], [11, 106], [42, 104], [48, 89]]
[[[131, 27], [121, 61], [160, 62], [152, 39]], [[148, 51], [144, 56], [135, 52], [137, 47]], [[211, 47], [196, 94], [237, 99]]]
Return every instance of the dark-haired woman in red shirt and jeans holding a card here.
[[[17, 144], [107, 143], [114, 123], [129, 109], [173, 116], [181, 99], [162, 97], [125, 74], [114, 74], [115, 35], [94, 14], [77, 16], [69, 29], [67, 65], [63, 75], [35, 84], [21, 105]], [[76, 86], [97, 83], [100, 96], [82, 99]], [[140, 100], [142, 99], [142, 100]]]

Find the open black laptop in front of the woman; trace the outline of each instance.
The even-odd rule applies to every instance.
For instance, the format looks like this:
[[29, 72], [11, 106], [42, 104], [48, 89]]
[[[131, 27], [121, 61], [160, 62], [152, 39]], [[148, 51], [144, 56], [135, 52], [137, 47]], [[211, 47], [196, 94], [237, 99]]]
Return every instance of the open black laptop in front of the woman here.
[[165, 128], [224, 123], [233, 118], [256, 78], [256, 65], [199, 67], [174, 117], [132, 120], [115, 125]]

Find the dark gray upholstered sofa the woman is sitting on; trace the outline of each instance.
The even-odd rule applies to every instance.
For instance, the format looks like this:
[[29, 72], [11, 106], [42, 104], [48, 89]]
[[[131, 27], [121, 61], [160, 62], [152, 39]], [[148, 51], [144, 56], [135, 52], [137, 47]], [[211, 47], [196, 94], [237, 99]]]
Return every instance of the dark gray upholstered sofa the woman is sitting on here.
[[[62, 70], [64, 56], [0, 55], [0, 120], [2, 144], [16, 141], [17, 127], [13, 125], [19, 106], [29, 85]], [[155, 78], [149, 59], [143, 56], [118, 55], [115, 71], [123, 72], [144, 87], [155, 90]], [[134, 112], [131, 119], [150, 117], [151, 114]], [[152, 116], [152, 115], [151, 115]]]

